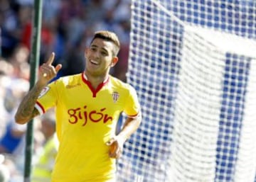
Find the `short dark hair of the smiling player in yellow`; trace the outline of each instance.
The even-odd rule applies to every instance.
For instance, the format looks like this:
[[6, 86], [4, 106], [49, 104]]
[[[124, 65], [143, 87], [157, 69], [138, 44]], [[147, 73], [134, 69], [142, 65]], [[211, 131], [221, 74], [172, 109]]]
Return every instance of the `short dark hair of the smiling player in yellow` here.
[[101, 38], [103, 40], [107, 40], [110, 42], [113, 42], [115, 45], [115, 49], [113, 50], [113, 55], [117, 56], [119, 49], [120, 49], [120, 42], [119, 39], [117, 37], [117, 35], [113, 32], [107, 31], [107, 30], [100, 30], [95, 32], [95, 35], [92, 38], [92, 41], [90, 42], [90, 44], [92, 44], [93, 40], [95, 40], [95, 38]]

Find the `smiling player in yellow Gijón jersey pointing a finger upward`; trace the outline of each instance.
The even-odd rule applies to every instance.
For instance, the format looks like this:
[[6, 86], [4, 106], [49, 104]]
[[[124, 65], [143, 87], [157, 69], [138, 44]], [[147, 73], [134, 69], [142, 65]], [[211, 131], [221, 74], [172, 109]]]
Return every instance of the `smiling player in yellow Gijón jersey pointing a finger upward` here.
[[[21, 101], [15, 115], [20, 124], [55, 107], [60, 146], [52, 182], [115, 181], [115, 159], [142, 121], [134, 88], [109, 74], [118, 52], [117, 35], [97, 32], [85, 50], [85, 72], [48, 84], [61, 69], [61, 64], [53, 67], [53, 53], [41, 66], [36, 85]], [[115, 135], [122, 112], [127, 120]]]

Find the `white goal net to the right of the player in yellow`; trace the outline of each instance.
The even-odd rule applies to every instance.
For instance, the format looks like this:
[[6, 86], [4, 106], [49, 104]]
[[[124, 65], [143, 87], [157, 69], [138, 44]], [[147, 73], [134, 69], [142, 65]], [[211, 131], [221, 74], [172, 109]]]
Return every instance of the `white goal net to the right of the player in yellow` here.
[[143, 121], [118, 182], [256, 182], [256, 1], [133, 0]]

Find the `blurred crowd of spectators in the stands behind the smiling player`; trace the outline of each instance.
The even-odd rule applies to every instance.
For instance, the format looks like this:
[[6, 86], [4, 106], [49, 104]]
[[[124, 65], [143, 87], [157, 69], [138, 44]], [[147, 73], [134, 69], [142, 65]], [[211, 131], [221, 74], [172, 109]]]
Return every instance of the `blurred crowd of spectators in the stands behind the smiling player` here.
[[[54, 64], [63, 64], [58, 76], [78, 74], [85, 68], [84, 51], [97, 30], [119, 36], [119, 62], [111, 74], [126, 81], [129, 53], [129, 0], [41, 0], [39, 64], [55, 52]], [[14, 121], [18, 103], [29, 90], [33, 0], [0, 0], [0, 181], [23, 181], [26, 125]], [[33, 163], [40, 161], [49, 139], [53, 113], [34, 120]], [[50, 122], [52, 123], [52, 122]], [[51, 133], [53, 136], [53, 132]], [[46, 151], [44, 151], [46, 152]], [[53, 152], [52, 152], [53, 153]], [[35, 164], [36, 165], [36, 164]]]

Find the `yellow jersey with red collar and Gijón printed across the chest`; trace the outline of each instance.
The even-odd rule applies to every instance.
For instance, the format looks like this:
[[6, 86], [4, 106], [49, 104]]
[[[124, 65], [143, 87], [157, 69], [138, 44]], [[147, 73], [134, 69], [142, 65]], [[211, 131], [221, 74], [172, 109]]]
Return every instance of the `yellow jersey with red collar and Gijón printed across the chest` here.
[[139, 114], [135, 89], [113, 76], [94, 89], [84, 73], [64, 76], [41, 91], [39, 113], [55, 107], [60, 142], [52, 182], [114, 181], [115, 159], [105, 143], [114, 137], [120, 113]]

